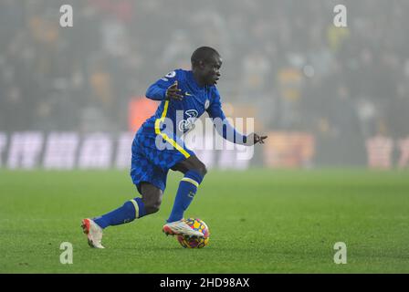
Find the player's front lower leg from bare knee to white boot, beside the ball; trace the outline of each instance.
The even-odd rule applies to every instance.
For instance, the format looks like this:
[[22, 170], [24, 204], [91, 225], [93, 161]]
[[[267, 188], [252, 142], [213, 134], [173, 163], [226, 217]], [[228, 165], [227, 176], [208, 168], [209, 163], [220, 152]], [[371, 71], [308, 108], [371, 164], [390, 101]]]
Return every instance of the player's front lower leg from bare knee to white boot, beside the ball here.
[[207, 172], [205, 164], [193, 155], [183, 162], [177, 163], [172, 169], [184, 172], [184, 178], [179, 183], [172, 213], [167, 220], [167, 224], [163, 226], [163, 232], [166, 235], [203, 237], [202, 233], [194, 231], [184, 222], [184, 211], [192, 203], [194, 194], [204, 179]]

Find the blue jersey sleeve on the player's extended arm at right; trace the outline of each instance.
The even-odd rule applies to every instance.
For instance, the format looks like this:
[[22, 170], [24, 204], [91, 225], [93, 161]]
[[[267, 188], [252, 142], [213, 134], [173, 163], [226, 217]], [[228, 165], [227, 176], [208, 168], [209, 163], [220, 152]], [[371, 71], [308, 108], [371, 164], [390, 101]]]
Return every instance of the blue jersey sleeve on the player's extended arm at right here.
[[236, 144], [246, 144], [247, 137], [238, 132], [232, 125], [225, 119], [225, 113], [222, 110], [222, 102], [220, 101], [220, 94], [215, 88], [213, 93], [213, 101], [207, 109], [209, 117], [213, 120], [215, 130], [227, 141], [231, 141]]

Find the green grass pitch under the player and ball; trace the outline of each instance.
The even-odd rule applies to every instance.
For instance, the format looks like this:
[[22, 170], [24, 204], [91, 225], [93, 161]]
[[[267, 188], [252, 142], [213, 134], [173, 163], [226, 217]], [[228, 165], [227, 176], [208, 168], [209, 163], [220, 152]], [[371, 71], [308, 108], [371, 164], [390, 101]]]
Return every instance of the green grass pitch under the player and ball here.
[[[209, 226], [203, 249], [162, 233], [181, 178], [171, 172], [160, 212], [109, 227], [98, 250], [80, 221], [137, 196], [127, 172], [1, 171], [0, 272], [409, 272], [409, 172], [210, 171], [186, 212]], [[73, 265], [59, 262], [62, 242]]]

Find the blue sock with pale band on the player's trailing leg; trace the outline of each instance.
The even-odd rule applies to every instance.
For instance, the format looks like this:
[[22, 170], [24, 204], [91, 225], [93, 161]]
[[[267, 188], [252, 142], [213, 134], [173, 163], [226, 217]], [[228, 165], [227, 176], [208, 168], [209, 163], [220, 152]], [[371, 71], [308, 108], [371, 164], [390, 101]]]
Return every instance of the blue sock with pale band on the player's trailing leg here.
[[125, 202], [121, 207], [110, 213], [94, 218], [94, 222], [102, 229], [111, 225], [125, 224], [141, 218], [146, 214], [145, 207], [141, 198], [135, 198]]

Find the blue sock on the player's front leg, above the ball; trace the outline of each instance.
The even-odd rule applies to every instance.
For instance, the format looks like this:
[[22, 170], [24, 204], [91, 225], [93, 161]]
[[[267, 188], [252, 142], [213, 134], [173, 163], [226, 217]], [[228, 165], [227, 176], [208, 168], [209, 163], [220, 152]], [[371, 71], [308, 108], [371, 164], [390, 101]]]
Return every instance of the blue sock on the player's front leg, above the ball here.
[[174, 198], [172, 213], [167, 222], [179, 221], [184, 218], [184, 211], [192, 203], [197, 187], [202, 181], [203, 176], [198, 172], [189, 171], [184, 173], [184, 178], [179, 183], [179, 188]]

